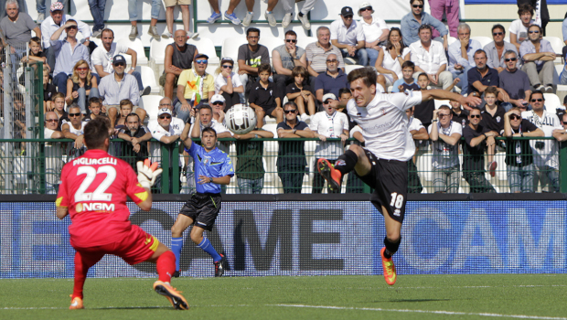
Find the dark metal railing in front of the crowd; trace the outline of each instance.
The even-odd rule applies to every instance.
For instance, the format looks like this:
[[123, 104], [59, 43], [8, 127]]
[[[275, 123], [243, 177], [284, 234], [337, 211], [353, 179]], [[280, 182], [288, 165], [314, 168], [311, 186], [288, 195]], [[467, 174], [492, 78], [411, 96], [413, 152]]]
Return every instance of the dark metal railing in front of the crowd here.
[[[339, 154], [343, 153], [338, 139], [328, 139], [327, 142], [337, 144]], [[415, 165], [408, 167], [409, 192], [567, 192], [567, 169], [563, 169], [567, 168], [567, 144], [551, 138], [528, 137], [498, 138], [497, 142], [495, 176], [490, 176], [487, 170], [487, 155], [482, 156], [485, 158], [484, 165], [463, 167], [463, 161], [470, 160], [468, 155], [438, 155], [432, 151], [431, 145], [418, 148]], [[229, 153], [236, 173], [230, 185], [223, 187], [223, 192], [328, 193], [325, 181], [316, 172], [316, 158], [336, 158], [337, 152], [321, 154], [317, 148], [319, 143], [315, 139], [219, 139], [219, 146]], [[356, 141], [351, 139], [347, 142], [351, 143]], [[517, 143], [529, 145], [523, 150], [530, 150], [531, 154], [517, 153], [515, 147], [506, 147], [506, 144]], [[547, 149], [548, 146], [541, 143], [557, 144], [557, 148]], [[152, 139], [144, 146], [136, 154], [130, 144], [115, 139], [109, 153], [132, 165], [134, 170], [135, 162], [146, 157], [160, 162], [165, 170], [153, 188], [155, 193], [187, 194], [195, 191], [193, 162], [183, 152], [179, 141], [162, 144]], [[554, 153], [544, 155], [543, 150], [554, 150]], [[0, 140], [0, 194], [57, 193], [63, 165], [83, 152], [75, 149], [70, 139]], [[448, 165], [439, 165], [440, 156]], [[434, 164], [435, 161], [437, 164]], [[457, 161], [458, 165], [451, 165], [452, 161]], [[343, 177], [341, 193], [370, 191], [353, 173]]]

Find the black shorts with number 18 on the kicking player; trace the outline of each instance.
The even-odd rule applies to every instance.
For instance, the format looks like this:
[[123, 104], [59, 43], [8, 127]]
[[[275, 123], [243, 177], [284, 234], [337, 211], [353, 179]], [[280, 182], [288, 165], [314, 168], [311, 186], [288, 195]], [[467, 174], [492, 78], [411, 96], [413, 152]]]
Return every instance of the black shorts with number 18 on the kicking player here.
[[357, 176], [374, 189], [370, 201], [380, 213], [383, 214], [383, 206], [391, 219], [403, 222], [408, 196], [407, 161], [379, 159], [368, 150], [364, 151], [372, 167], [368, 175]]

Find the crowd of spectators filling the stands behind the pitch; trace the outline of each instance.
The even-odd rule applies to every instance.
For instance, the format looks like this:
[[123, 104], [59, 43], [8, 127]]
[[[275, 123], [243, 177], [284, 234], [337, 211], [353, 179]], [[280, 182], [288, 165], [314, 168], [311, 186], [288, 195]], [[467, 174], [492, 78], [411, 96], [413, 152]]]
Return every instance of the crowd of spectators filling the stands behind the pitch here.
[[[545, 107], [544, 93], [556, 90], [554, 61], [559, 56], [543, 38], [547, 23], [542, 18], [544, 15], [541, 16], [543, 11], [534, 16], [534, 7], [522, 2], [519, 19], [508, 29], [502, 25], [492, 27], [493, 41], [483, 47], [471, 38], [471, 27], [459, 23], [458, 1], [429, 0], [430, 15], [423, 12], [423, 0], [409, 0], [411, 11], [401, 18], [401, 27], [389, 27], [372, 4], [362, 2], [354, 9], [344, 6], [336, 21], [317, 27], [316, 42], [300, 43], [297, 34], [288, 30], [282, 45], [270, 52], [259, 43], [260, 29], [249, 27], [254, 1], [246, 1], [247, 13], [243, 17], [234, 14], [240, 2], [231, 0], [222, 14], [218, 0], [209, 0], [212, 9], [209, 23], [224, 15], [234, 25], [248, 27], [247, 43], [238, 49], [237, 61], [223, 57], [219, 68], [209, 74], [209, 56], [187, 43], [187, 39], [198, 37], [195, 30], [189, 30], [190, 1], [165, 1], [166, 31], [162, 35], [156, 29], [162, 2], [152, 1], [152, 20], [147, 33], [155, 40], [171, 37], [174, 41], [165, 49], [164, 73], [158, 81], [164, 98], [159, 102], [157, 114], [147, 114], [140, 106], [141, 97], [151, 89], [144, 86], [140, 72], [135, 70], [136, 51], [115, 42], [112, 29], [104, 27], [104, 0], [89, 0], [92, 26], [64, 15], [66, 4], [61, 2], [52, 2], [47, 12], [45, 1], [37, 0], [39, 15], [34, 21], [22, 12], [21, 1], [6, 0], [3, 5], [6, 16], [0, 20], [4, 35], [0, 46], [10, 46], [13, 68], [20, 61], [44, 62], [44, 134], [47, 139], [74, 140], [67, 144], [70, 157], [84, 152], [84, 125], [97, 116], [111, 120], [114, 137], [124, 141], [114, 146], [115, 155], [131, 155], [128, 157], [131, 165], [147, 156], [161, 159], [165, 155], [160, 144], [173, 144], [189, 134], [199, 138], [202, 129], [212, 127], [218, 138], [236, 139], [240, 192], [261, 193], [265, 173], [263, 144], [250, 141], [252, 138], [274, 135], [288, 139], [315, 138], [315, 160], [326, 157], [331, 162], [344, 152], [348, 138], [364, 144], [356, 123], [345, 112], [329, 106], [329, 101], [350, 99], [345, 68], [357, 65], [376, 69], [379, 73], [376, 87], [380, 92], [411, 94], [411, 91], [442, 89], [483, 99], [483, 104], [473, 109], [464, 109], [456, 102], [435, 108], [434, 101], [425, 101], [406, 111], [408, 130], [418, 146], [418, 154], [423, 148], [432, 150], [428, 161], [433, 170], [434, 192], [458, 192], [461, 176], [471, 192], [495, 192], [485, 172], [495, 176], [498, 152], [506, 154], [511, 192], [533, 192], [538, 182], [545, 191], [559, 191], [556, 141], [567, 139], [564, 122], [567, 117], [564, 109]], [[281, 2], [285, 11], [282, 26], [288, 27], [294, 19], [295, 1]], [[272, 27], [276, 26], [273, 8], [277, 4], [278, 1], [270, 1], [264, 15]], [[307, 30], [311, 28], [307, 13], [315, 4], [316, 0], [306, 0], [297, 13], [297, 19]], [[128, 1], [131, 39], [139, 37], [136, 5], [137, 0]], [[174, 30], [176, 5], [181, 9], [184, 25], [179, 30]], [[441, 22], [443, 16], [448, 27]], [[36, 37], [31, 37], [32, 30]], [[567, 15], [562, 31], [566, 47], [561, 58], [565, 59]], [[78, 32], [84, 37], [82, 43], [76, 37]], [[507, 32], [509, 42], [505, 40]], [[97, 47], [90, 41], [91, 37], [100, 38], [102, 45]], [[456, 41], [449, 44], [450, 37]], [[129, 56], [131, 62], [124, 56]], [[567, 84], [567, 65], [559, 80], [560, 84]], [[251, 133], [230, 133], [222, 124], [224, 112], [238, 104], [250, 105], [256, 113], [257, 127]], [[567, 105], [567, 100], [564, 104]], [[148, 123], [148, 117], [156, 120]], [[262, 129], [269, 119], [277, 123], [275, 132]], [[20, 126], [23, 128], [25, 124]], [[553, 136], [556, 141], [497, 139], [512, 136]], [[159, 144], [148, 143], [151, 138]], [[301, 192], [307, 165], [304, 142], [283, 140], [278, 144], [276, 167], [283, 192]], [[230, 142], [219, 143], [223, 151], [229, 152], [229, 147]], [[191, 161], [190, 157], [181, 157], [178, 164], [180, 170], [187, 172], [187, 186], [192, 181]], [[172, 174], [171, 167], [168, 169], [164, 175]], [[422, 192], [414, 161], [410, 171], [410, 192]], [[177, 183], [175, 178], [169, 181]], [[320, 193], [323, 183], [316, 175], [312, 192]], [[161, 180], [156, 186], [160, 184]], [[360, 190], [360, 186], [354, 175], [348, 176], [348, 192]]]

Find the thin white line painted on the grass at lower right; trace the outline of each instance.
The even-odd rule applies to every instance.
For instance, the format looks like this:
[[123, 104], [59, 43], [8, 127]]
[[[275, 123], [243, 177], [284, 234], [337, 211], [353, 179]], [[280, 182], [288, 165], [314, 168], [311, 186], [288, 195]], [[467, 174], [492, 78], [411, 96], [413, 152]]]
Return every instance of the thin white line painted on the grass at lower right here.
[[519, 318], [519, 319], [538, 319], [538, 320], [567, 320], [567, 318], [554, 317], [554, 316], [538, 316], [538, 315], [501, 315], [501, 314], [487, 314], [487, 313], [466, 313], [458, 311], [444, 311], [444, 310], [411, 310], [411, 309], [384, 309], [384, 308], [359, 308], [351, 306], [335, 306], [335, 305], [307, 305], [307, 304], [266, 304], [273, 306], [287, 306], [295, 308], [314, 308], [314, 309], [335, 309], [335, 310], [362, 310], [362, 311], [386, 311], [386, 312], [399, 312], [399, 313], [416, 313], [416, 314], [437, 314], [437, 315], [480, 315], [492, 317], [506, 317], [506, 318]]

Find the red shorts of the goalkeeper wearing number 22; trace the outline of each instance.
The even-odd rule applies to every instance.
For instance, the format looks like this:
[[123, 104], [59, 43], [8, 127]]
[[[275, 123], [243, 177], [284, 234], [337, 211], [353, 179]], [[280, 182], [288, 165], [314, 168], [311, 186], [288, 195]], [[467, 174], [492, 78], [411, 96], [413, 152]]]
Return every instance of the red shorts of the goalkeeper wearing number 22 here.
[[74, 247], [76, 251], [86, 255], [104, 255], [113, 254], [126, 261], [128, 264], [137, 264], [144, 262], [152, 257], [159, 240], [149, 233], [146, 233], [142, 228], [132, 225], [130, 233], [123, 239], [117, 240], [102, 246], [78, 248]]

